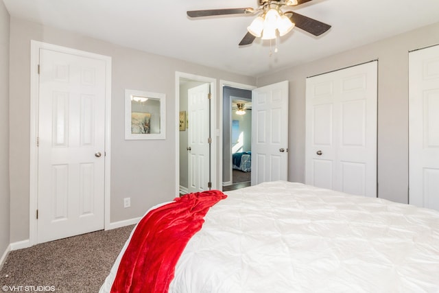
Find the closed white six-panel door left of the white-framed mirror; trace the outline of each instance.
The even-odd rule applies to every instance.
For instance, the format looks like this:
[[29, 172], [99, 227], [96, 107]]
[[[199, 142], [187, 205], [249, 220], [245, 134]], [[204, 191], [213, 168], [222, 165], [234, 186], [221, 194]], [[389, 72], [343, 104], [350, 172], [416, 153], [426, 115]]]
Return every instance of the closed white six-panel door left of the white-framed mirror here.
[[37, 242], [104, 228], [105, 62], [40, 49]]

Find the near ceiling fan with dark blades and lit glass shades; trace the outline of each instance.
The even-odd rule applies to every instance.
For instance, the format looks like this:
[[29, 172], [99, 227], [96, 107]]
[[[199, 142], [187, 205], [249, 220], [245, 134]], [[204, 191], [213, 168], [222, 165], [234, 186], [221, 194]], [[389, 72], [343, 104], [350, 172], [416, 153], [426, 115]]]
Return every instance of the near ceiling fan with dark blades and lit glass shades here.
[[331, 28], [331, 25], [311, 19], [296, 12], [284, 12], [282, 8], [297, 6], [312, 0], [259, 0], [259, 7], [254, 8], [226, 8], [210, 10], [191, 10], [187, 12], [189, 17], [220, 16], [228, 14], [259, 14], [247, 27], [247, 34], [239, 43], [250, 45], [257, 37], [262, 39], [276, 38], [287, 34], [294, 26], [309, 32], [314, 36], [320, 36]]

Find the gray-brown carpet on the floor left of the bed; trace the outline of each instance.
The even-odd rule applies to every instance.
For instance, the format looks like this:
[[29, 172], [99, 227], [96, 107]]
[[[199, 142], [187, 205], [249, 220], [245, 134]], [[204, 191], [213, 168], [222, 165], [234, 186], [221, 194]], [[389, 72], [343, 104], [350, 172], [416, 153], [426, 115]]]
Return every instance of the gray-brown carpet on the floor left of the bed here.
[[55, 292], [98, 292], [133, 227], [11, 251], [0, 271], [0, 286], [23, 286], [23, 292], [24, 286], [54, 286]]

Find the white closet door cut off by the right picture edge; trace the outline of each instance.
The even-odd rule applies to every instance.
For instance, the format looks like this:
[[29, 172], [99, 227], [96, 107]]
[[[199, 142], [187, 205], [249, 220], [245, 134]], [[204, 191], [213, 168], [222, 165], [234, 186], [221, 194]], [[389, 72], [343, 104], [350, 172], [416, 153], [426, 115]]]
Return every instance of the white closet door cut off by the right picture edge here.
[[409, 60], [409, 202], [439, 211], [439, 46]]

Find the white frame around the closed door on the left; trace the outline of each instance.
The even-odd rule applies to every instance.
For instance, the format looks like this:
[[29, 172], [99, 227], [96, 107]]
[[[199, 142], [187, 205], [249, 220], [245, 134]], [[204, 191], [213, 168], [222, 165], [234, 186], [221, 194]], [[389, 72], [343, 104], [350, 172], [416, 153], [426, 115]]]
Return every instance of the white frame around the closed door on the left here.
[[[38, 63], [40, 49], [60, 51], [65, 54], [97, 58], [106, 62], [106, 95], [105, 95], [105, 185], [104, 185], [104, 228], [110, 227], [110, 142], [111, 142], [111, 57], [80, 51], [68, 47], [52, 45], [31, 40], [30, 50], [30, 163], [29, 163], [29, 246], [37, 242], [36, 208], [38, 207]], [[112, 227], [116, 228], [116, 227]]]

